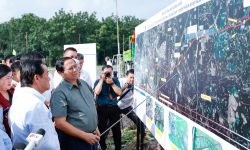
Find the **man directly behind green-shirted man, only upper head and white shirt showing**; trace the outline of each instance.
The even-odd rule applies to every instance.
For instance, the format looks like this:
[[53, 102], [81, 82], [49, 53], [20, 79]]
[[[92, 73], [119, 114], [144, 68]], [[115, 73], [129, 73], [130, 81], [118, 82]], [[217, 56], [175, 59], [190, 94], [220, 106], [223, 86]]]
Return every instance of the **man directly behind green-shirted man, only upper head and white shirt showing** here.
[[[77, 50], [74, 47], [68, 47], [63, 51], [63, 57], [70, 57], [77, 59]], [[57, 71], [54, 73], [54, 88], [56, 88], [62, 81], [62, 77]]]

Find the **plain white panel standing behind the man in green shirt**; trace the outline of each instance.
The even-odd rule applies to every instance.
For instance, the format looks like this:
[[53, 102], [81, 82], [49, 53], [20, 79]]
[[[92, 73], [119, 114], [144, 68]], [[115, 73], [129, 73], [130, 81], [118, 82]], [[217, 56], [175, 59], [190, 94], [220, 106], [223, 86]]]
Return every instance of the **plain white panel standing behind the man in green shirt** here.
[[64, 49], [67, 47], [74, 47], [77, 50], [77, 53], [84, 55], [82, 69], [89, 73], [92, 84], [94, 85], [96, 81], [97, 66], [96, 43], [64, 45]]

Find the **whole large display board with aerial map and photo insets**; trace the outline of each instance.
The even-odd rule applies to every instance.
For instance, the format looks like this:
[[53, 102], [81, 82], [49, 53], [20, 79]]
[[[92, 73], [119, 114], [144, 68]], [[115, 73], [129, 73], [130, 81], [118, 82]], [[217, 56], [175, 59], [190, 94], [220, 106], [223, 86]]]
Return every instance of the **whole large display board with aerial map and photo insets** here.
[[178, 0], [135, 34], [135, 112], [165, 149], [250, 148], [250, 1]]

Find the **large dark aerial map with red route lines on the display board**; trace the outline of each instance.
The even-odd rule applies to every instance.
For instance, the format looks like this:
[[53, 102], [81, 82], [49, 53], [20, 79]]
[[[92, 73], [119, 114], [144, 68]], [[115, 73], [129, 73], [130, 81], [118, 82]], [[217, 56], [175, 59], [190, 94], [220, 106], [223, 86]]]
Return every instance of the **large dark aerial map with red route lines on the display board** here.
[[[135, 40], [135, 84], [240, 149], [250, 148], [250, 8], [244, 5], [211, 0]], [[178, 137], [174, 120], [172, 140]], [[199, 149], [202, 132], [196, 132]]]

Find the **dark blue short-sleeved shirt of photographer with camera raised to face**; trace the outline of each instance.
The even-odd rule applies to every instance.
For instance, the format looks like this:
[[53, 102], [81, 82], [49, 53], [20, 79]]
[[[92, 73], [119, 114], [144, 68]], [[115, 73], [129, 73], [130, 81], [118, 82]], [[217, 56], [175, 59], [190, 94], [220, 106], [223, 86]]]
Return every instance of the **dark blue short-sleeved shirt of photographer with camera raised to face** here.
[[[116, 86], [121, 88], [119, 80], [118, 79], [114, 79], [114, 80], [115, 80]], [[98, 82], [99, 82], [99, 80], [95, 81], [94, 88], [97, 86]], [[115, 100], [113, 100], [113, 101], [111, 101], [111, 99], [109, 97], [109, 92], [108, 92], [109, 88], [110, 88], [110, 93], [115, 98]], [[117, 105], [117, 102], [118, 102], [117, 101], [117, 94], [115, 93], [115, 91], [113, 90], [111, 85], [106, 83], [106, 81], [103, 81], [102, 91], [97, 96], [97, 101], [98, 101], [98, 104], [101, 104], [101, 105]]]

